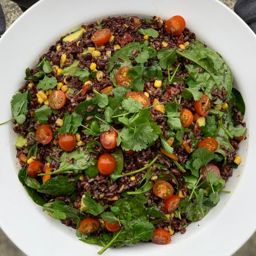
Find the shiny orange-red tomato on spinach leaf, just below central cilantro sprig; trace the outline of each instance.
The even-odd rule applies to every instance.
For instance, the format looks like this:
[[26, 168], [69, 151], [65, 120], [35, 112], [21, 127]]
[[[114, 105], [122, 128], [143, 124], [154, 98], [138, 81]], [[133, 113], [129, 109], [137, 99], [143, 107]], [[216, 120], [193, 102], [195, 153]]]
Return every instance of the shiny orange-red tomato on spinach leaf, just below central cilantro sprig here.
[[116, 168], [116, 158], [108, 153], [98, 158], [98, 171], [103, 175], [110, 175]]

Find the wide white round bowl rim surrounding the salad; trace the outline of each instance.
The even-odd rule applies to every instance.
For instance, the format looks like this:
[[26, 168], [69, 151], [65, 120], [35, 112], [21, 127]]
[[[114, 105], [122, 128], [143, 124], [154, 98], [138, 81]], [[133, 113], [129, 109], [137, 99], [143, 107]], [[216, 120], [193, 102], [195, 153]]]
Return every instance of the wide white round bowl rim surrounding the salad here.
[[[0, 38], [0, 122], [12, 118], [10, 100], [24, 83], [24, 70], [36, 65], [51, 44], [80, 24], [120, 14], [168, 19], [182, 15], [197, 38], [217, 50], [230, 66], [234, 86], [246, 104], [249, 135], [241, 143], [242, 164], [234, 170], [219, 204], [206, 218], [175, 234], [169, 245], [140, 243], [108, 249], [106, 256], [226, 256], [234, 253], [256, 229], [255, 154], [256, 36], [230, 9], [217, 0], [42, 0], [26, 11]], [[75, 231], [42, 212], [18, 180], [12, 123], [0, 127], [0, 227], [29, 256], [97, 255], [100, 247], [80, 242]]]

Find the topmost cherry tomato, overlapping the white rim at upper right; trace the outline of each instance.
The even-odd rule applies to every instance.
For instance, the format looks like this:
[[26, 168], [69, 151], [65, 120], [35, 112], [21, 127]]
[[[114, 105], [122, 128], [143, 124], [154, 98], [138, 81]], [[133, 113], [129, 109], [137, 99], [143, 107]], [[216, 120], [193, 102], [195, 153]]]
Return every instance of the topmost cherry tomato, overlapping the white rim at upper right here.
[[165, 30], [167, 33], [171, 34], [171, 36], [180, 35], [186, 26], [186, 22], [182, 16], [176, 15], [167, 20], [164, 24]]

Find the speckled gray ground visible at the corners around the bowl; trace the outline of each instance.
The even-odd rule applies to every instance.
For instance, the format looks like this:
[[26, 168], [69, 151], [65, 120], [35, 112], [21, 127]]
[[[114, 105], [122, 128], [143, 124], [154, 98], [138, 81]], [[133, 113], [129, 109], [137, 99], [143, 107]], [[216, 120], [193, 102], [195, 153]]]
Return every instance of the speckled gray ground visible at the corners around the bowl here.
[[[220, 0], [233, 9], [236, 0]], [[22, 14], [11, 0], [0, 0], [6, 17], [6, 28]], [[237, 234], [239, 235], [239, 233]], [[25, 256], [0, 229], [0, 256]], [[256, 233], [233, 256], [256, 256]]]

